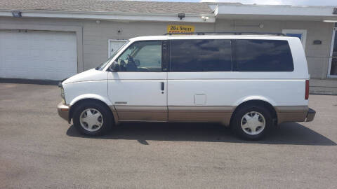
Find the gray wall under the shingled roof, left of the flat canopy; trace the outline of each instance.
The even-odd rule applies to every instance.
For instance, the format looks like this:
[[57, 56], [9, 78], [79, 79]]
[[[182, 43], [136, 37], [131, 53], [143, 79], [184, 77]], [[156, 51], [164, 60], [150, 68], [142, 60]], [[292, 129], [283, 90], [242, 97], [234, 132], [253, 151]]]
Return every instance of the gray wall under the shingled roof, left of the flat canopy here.
[[[70, 19], [50, 19], [50, 18], [0, 18], [0, 28], [6, 25], [18, 25], [25, 28], [25, 25], [34, 25], [36, 29], [43, 26], [68, 26], [81, 27], [83, 37], [83, 51], [79, 56], [83, 57], [83, 69], [79, 72], [91, 69], [104, 62], [108, 57], [109, 39], [128, 39], [135, 36], [162, 35], [166, 33], [167, 25], [182, 24], [174, 22], [113, 22], [100, 20], [70, 20]], [[194, 25], [197, 31], [213, 31], [212, 23], [183, 23], [183, 25]], [[117, 31], [121, 29], [121, 34]], [[78, 43], [79, 44], [79, 43]], [[79, 66], [82, 68], [82, 66]]]

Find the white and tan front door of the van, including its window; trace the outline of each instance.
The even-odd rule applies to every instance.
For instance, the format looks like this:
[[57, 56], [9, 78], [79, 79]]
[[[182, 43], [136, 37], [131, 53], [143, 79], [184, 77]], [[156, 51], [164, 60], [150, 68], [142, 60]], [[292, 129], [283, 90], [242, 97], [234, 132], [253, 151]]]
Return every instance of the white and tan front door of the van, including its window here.
[[167, 121], [165, 41], [136, 41], [108, 73], [108, 95], [119, 121]]

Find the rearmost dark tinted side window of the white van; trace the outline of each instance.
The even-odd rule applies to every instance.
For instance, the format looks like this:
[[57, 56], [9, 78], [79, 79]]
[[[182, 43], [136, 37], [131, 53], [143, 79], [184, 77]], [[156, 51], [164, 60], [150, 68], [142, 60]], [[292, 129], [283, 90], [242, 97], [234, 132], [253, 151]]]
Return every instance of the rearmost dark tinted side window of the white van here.
[[288, 41], [235, 40], [236, 71], [293, 71]]

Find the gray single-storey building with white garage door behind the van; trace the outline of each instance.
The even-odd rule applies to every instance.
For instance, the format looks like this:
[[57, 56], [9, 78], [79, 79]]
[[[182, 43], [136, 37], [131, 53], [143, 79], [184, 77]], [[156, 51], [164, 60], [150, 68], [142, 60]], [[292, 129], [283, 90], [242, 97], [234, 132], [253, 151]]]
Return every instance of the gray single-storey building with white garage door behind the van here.
[[312, 93], [337, 94], [337, 8], [154, 1], [0, 1], [0, 78], [61, 80], [104, 62], [134, 36], [282, 32], [305, 48]]

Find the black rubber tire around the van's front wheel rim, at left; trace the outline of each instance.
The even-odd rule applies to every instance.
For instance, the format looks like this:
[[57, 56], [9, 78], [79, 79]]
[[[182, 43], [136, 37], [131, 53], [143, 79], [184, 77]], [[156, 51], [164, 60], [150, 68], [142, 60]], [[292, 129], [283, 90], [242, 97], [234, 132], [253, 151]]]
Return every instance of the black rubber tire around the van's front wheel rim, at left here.
[[[98, 110], [102, 116], [103, 116], [103, 125], [95, 131], [88, 131], [82, 127], [80, 123], [80, 116], [83, 111], [86, 109], [96, 109]], [[72, 121], [74, 123], [74, 127], [81, 133], [86, 136], [102, 136], [103, 134], [107, 133], [112, 128], [112, 113], [109, 109], [107, 109], [106, 106], [100, 103], [95, 102], [87, 102], [84, 104], [80, 104], [77, 106], [77, 108], [74, 110], [74, 116], [72, 118]]]

